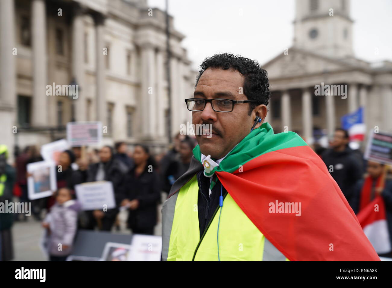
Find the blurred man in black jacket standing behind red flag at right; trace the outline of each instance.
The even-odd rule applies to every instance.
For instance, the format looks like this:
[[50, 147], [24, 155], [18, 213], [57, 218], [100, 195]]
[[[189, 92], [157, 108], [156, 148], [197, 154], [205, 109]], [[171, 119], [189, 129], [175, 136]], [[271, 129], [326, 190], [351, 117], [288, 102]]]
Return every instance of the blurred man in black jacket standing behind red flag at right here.
[[348, 133], [343, 129], [336, 129], [331, 149], [323, 152], [323, 159], [332, 178], [338, 183], [347, 201], [351, 201], [352, 189], [362, 178], [362, 163], [354, 152], [348, 147]]

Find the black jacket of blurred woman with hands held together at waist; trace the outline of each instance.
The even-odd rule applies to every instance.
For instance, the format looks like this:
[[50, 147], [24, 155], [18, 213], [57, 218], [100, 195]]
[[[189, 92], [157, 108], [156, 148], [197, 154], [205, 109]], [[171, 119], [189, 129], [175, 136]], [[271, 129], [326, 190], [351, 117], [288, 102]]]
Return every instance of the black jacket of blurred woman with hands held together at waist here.
[[160, 181], [156, 172], [148, 172], [148, 168], [139, 176], [135, 169], [126, 176], [126, 198], [138, 199], [139, 206], [129, 210], [128, 228], [151, 228], [157, 223], [158, 203], [160, 201]]

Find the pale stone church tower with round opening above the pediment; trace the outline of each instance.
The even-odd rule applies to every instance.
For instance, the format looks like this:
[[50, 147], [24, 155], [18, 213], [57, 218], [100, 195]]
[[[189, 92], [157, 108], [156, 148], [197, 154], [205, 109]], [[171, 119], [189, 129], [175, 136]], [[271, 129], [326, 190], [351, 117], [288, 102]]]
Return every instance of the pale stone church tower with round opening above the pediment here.
[[294, 47], [332, 58], [353, 57], [349, 0], [296, 0]]

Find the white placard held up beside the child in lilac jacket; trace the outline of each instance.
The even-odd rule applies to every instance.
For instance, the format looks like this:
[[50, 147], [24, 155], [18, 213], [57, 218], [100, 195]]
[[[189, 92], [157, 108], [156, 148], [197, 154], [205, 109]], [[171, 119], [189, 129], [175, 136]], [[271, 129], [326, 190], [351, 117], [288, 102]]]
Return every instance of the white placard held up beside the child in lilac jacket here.
[[[82, 210], [102, 210], [116, 207], [111, 181], [96, 181], [75, 185], [76, 197]], [[107, 205], [107, 206], [104, 206]]]

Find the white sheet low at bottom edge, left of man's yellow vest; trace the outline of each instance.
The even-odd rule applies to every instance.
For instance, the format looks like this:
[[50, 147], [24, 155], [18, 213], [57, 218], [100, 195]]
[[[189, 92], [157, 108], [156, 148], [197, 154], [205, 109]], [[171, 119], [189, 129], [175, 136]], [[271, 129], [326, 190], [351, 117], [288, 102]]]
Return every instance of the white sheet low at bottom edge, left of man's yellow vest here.
[[128, 261], [161, 261], [162, 237], [134, 234]]

